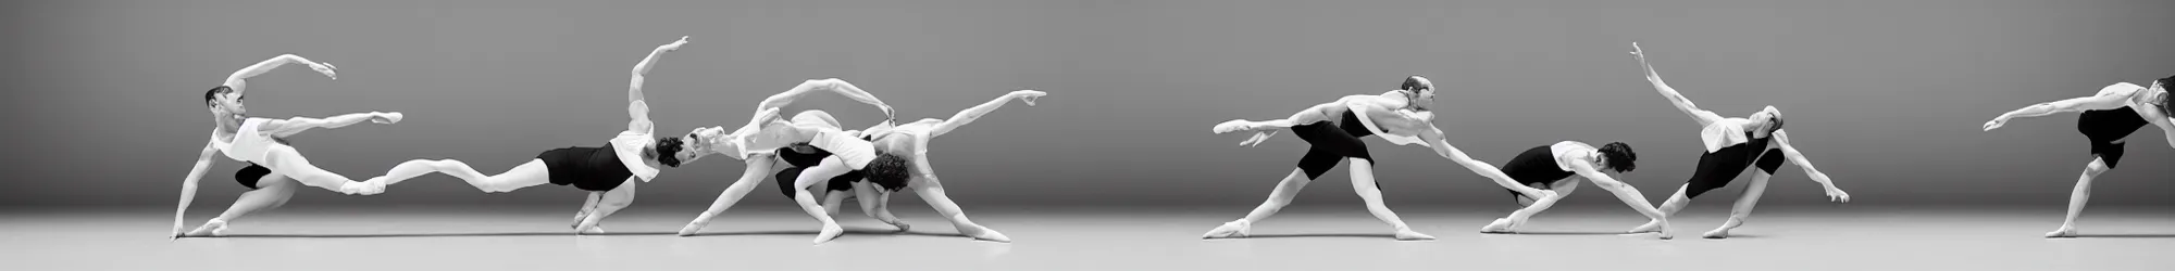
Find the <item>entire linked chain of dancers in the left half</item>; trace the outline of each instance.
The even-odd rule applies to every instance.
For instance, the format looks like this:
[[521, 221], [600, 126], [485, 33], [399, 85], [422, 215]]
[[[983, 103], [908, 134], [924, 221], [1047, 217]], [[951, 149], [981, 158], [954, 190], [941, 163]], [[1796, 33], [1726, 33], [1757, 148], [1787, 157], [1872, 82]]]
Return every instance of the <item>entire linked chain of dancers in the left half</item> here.
[[[937, 182], [933, 167], [927, 163], [927, 141], [950, 132], [964, 124], [987, 115], [990, 111], [1003, 106], [1009, 100], [1027, 100], [1033, 106], [1042, 91], [1014, 91], [987, 104], [968, 108], [953, 119], [922, 119], [905, 126], [892, 126], [890, 117], [870, 130], [840, 130], [835, 119], [829, 119], [822, 111], [811, 111], [805, 115], [822, 115], [829, 119], [824, 124], [811, 124], [807, 117], [796, 117], [794, 121], [776, 119], [776, 111], [792, 104], [792, 100], [822, 91], [844, 93], [848, 98], [877, 104], [885, 115], [892, 108], [885, 106], [874, 95], [868, 95], [859, 87], [844, 80], [809, 80], [792, 91], [772, 95], [761, 102], [757, 117], [731, 134], [722, 134], [720, 128], [700, 128], [685, 137], [655, 137], [655, 124], [648, 119], [648, 104], [644, 102], [642, 82], [644, 74], [657, 65], [663, 52], [674, 52], [687, 43], [687, 37], [679, 41], [659, 46], [633, 69], [633, 80], [629, 82], [629, 117], [626, 130], [613, 137], [602, 147], [559, 147], [537, 154], [529, 163], [522, 163], [505, 173], [487, 176], [461, 160], [407, 160], [389, 169], [385, 176], [355, 182], [346, 176], [331, 173], [309, 165], [294, 147], [283, 139], [309, 128], [341, 128], [361, 121], [396, 124], [402, 119], [400, 113], [355, 113], [339, 117], [291, 117], [291, 119], [261, 119], [246, 117], [244, 89], [246, 78], [265, 74], [274, 67], [300, 63], [318, 69], [324, 76], [335, 76], [333, 65], [315, 63], [302, 56], [283, 54], [270, 61], [250, 65], [235, 72], [222, 87], [204, 93], [204, 102], [217, 126], [213, 128], [211, 143], [198, 156], [196, 167], [183, 180], [181, 206], [174, 210], [174, 236], [220, 236], [226, 232], [233, 219], [254, 210], [268, 210], [285, 204], [294, 195], [294, 184], [322, 186], [328, 191], [339, 191], [348, 195], [376, 195], [383, 193], [387, 184], [400, 180], [418, 178], [424, 173], [446, 173], [465, 180], [468, 184], [485, 193], [515, 191], [537, 184], [570, 184], [589, 191], [585, 204], [574, 215], [574, 230], [585, 234], [602, 232], [598, 223], [633, 204], [635, 186], [642, 180], [648, 182], [659, 173], [659, 165], [679, 167], [683, 163], [698, 160], [707, 154], [733, 154], [735, 158], [748, 160], [746, 176], [763, 176], [772, 160], [787, 160], [796, 165], [794, 186], [781, 186], [794, 193], [794, 199], [803, 204], [818, 221], [824, 223], [822, 234], [816, 243], [835, 238], [842, 230], [840, 225], [822, 212], [822, 206], [813, 206], [813, 195], [807, 186], [816, 180], [835, 182], [831, 191], [853, 191], [859, 193], [859, 202], [870, 217], [879, 217], [885, 223], [898, 225], [898, 221], [887, 212], [885, 202], [890, 191], [916, 189], [931, 206], [935, 206], [946, 219], [950, 219], [961, 234], [983, 238], [983, 241], [1009, 241], [1007, 236], [987, 230], [979, 223], [966, 219], [957, 204], [944, 197], [942, 184]], [[879, 150], [881, 147], [881, 150]], [[776, 150], [776, 152], [770, 152]], [[196, 182], [204, 176], [211, 165], [211, 154], [226, 154], [233, 160], [252, 163], [241, 169], [235, 180], [252, 189], [244, 193], [235, 206], [224, 215], [207, 221], [204, 225], [183, 232], [183, 212], [196, 195]], [[907, 167], [909, 158], [898, 154], [909, 154], [913, 167]], [[863, 178], [866, 176], [866, 178]], [[785, 176], [781, 176], [785, 178]], [[861, 182], [868, 180], [868, 182]], [[783, 180], [781, 180], [783, 182]], [[874, 182], [877, 186], [870, 186]], [[694, 234], [705, 225], [716, 212], [739, 199], [746, 189], [755, 182], [742, 178], [720, 195], [720, 202], [705, 210], [694, 223], [689, 223], [681, 234]], [[844, 184], [844, 189], [837, 189]], [[881, 186], [881, 189], [879, 189]], [[844, 197], [829, 199], [835, 206]]]

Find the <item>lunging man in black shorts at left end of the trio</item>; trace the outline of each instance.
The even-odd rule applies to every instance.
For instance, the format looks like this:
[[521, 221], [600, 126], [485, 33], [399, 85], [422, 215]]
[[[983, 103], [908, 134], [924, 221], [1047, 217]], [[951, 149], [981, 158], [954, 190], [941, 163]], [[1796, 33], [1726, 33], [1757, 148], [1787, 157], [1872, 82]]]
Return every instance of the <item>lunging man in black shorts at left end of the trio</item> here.
[[1353, 173], [1353, 191], [1359, 193], [1359, 199], [1366, 199], [1368, 212], [1375, 212], [1375, 219], [1396, 228], [1399, 241], [1435, 238], [1414, 232], [1403, 219], [1396, 217], [1396, 212], [1383, 206], [1381, 189], [1375, 184], [1375, 158], [1368, 156], [1366, 143], [1359, 141], [1368, 134], [1379, 134], [1396, 145], [1422, 143], [1435, 150], [1442, 158], [1451, 158], [1451, 163], [1464, 165], [1466, 169], [1494, 180], [1503, 189], [1512, 189], [1536, 199], [1557, 197], [1553, 191], [1522, 186], [1509, 176], [1503, 176], [1503, 171], [1496, 171], [1494, 165], [1472, 160], [1462, 150], [1444, 141], [1442, 128], [1431, 124], [1435, 119], [1433, 111], [1429, 111], [1433, 104], [1435, 85], [1427, 78], [1409, 76], [1401, 89], [1385, 91], [1381, 95], [1344, 95], [1338, 102], [1298, 111], [1288, 119], [1231, 119], [1216, 124], [1214, 132], [1218, 134], [1240, 130], [1255, 132], [1251, 139], [1240, 143], [1248, 147], [1268, 141], [1268, 137], [1275, 137], [1283, 128], [1290, 128], [1298, 134], [1298, 139], [1314, 147], [1298, 158], [1298, 169], [1292, 169], [1292, 173], [1277, 184], [1277, 189], [1268, 195], [1268, 202], [1262, 202], [1262, 206], [1253, 208], [1253, 212], [1238, 221], [1209, 230], [1203, 238], [1248, 236], [1255, 221], [1268, 219], [1283, 206], [1292, 204], [1298, 189], [1305, 189], [1314, 178], [1329, 173], [1331, 167], [1338, 167], [1338, 160], [1351, 160], [1348, 169]]

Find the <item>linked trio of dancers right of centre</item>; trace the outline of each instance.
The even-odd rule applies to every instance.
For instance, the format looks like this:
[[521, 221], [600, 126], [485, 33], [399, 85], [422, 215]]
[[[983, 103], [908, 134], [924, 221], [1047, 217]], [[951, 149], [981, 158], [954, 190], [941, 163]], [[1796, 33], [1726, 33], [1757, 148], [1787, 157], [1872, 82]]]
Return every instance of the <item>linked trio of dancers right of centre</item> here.
[[1673, 238], [1668, 217], [1690, 204], [1692, 197], [1705, 195], [1707, 191], [1720, 189], [1736, 180], [1747, 167], [1757, 165], [1760, 171], [1753, 173], [1751, 184], [1747, 184], [1744, 195], [1740, 195], [1736, 208], [1729, 212], [1729, 221], [1720, 228], [1705, 232], [1707, 238], [1727, 238], [1729, 230], [1744, 225], [1751, 217], [1753, 206], [1766, 191], [1768, 178], [1783, 160], [1794, 163], [1812, 176], [1814, 182], [1827, 189], [1829, 199], [1849, 202], [1851, 195], [1812, 167], [1797, 147], [1790, 145], [1788, 132], [1783, 132], [1781, 111], [1766, 106], [1749, 117], [1723, 117], [1712, 111], [1699, 108], [1692, 100], [1686, 100], [1677, 89], [1662, 82], [1662, 76], [1653, 72], [1646, 63], [1646, 54], [1631, 46], [1631, 56], [1638, 56], [1646, 72], [1646, 80], [1653, 89], [1668, 98], [1677, 111], [1683, 111], [1701, 126], [1701, 141], [1705, 152], [1699, 156], [1699, 169], [1668, 197], [1660, 208], [1649, 204], [1644, 195], [1631, 184], [1620, 180], [1620, 173], [1636, 169], [1638, 152], [1631, 152], [1627, 143], [1605, 143], [1594, 147], [1581, 141], [1559, 141], [1540, 147], [1531, 147], [1514, 156], [1501, 169], [1483, 160], [1466, 156], [1449, 141], [1433, 121], [1433, 98], [1435, 85], [1420, 76], [1409, 76], [1399, 89], [1385, 91], [1381, 95], [1346, 95], [1335, 102], [1316, 104], [1285, 119], [1268, 121], [1246, 121], [1233, 119], [1216, 124], [1214, 132], [1253, 132], [1240, 145], [1259, 145], [1262, 141], [1275, 137], [1281, 130], [1292, 130], [1301, 141], [1312, 147], [1298, 158], [1298, 169], [1292, 169], [1283, 182], [1270, 191], [1268, 202], [1253, 208], [1246, 217], [1229, 221], [1203, 234], [1203, 238], [1240, 238], [1248, 236], [1255, 221], [1277, 215], [1283, 206], [1298, 195], [1314, 178], [1320, 178], [1340, 160], [1351, 163], [1353, 191], [1366, 202], [1368, 210], [1377, 219], [1394, 228], [1399, 241], [1427, 241], [1429, 234], [1414, 232], [1403, 219], [1392, 212], [1383, 199], [1381, 189], [1375, 184], [1375, 158], [1368, 154], [1364, 137], [1381, 137], [1383, 141], [1396, 145], [1420, 143], [1442, 158], [1451, 158], [1472, 173], [1494, 180], [1503, 189], [1518, 195], [1520, 204], [1509, 217], [1494, 219], [1483, 225], [1481, 232], [1516, 232], [1533, 215], [1549, 210], [1557, 199], [1570, 195], [1579, 182], [1594, 182], [1603, 191], [1614, 193], [1627, 206], [1646, 215], [1651, 221], [1629, 230], [1631, 234], [1653, 232], [1660, 238]]

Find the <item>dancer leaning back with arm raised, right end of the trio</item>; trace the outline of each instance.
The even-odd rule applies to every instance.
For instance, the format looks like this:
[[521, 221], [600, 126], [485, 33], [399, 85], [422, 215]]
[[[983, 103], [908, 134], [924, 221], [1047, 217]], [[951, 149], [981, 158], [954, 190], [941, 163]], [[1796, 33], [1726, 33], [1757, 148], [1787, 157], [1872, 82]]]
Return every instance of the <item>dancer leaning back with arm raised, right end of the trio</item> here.
[[[1660, 91], [1662, 98], [1668, 98], [1670, 104], [1677, 104], [1677, 111], [1683, 111], [1686, 115], [1692, 115], [1692, 121], [1699, 121], [1699, 137], [1707, 147], [1705, 154], [1699, 156], [1699, 169], [1692, 178], [1677, 189], [1677, 195], [1662, 202], [1664, 217], [1683, 210], [1683, 206], [1692, 204], [1692, 197], [1727, 186], [1738, 178], [1738, 173], [1744, 173], [1744, 167], [1757, 165], [1760, 171], [1753, 171], [1753, 182], [1744, 186], [1744, 195], [1740, 195], [1738, 204], [1729, 210], [1729, 221], [1723, 221], [1720, 228], [1701, 234], [1705, 238], [1729, 238], [1729, 230], [1744, 225], [1744, 219], [1753, 215], [1753, 206], [1757, 206], [1760, 195], [1766, 193], [1766, 180], [1775, 176], [1775, 169], [1781, 169], [1783, 160], [1803, 167], [1812, 182], [1820, 182], [1829, 202], [1851, 202], [1851, 193], [1836, 189], [1836, 182], [1829, 180], [1827, 173], [1814, 169], [1812, 160], [1790, 145], [1790, 134], [1781, 130], [1781, 111], [1775, 106], [1760, 108], [1760, 113], [1753, 113], [1751, 117], [1716, 115], [1714, 111], [1694, 106], [1692, 100], [1683, 98], [1683, 93], [1677, 93], [1677, 89], [1662, 82], [1662, 74], [1653, 72], [1653, 65], [1646, 63], [1646, 52], [1640, 50], [1638, 43], [1631, 43], [1631, 56], [1638, 56], [1640, 67], [1646, 69], [1646, 80], [1653, 82], [1653, 89]], [[1660, 232], [1666, 230], [1666, 225], [1668, 221], [1655, 219], [1646, 225], [1631, 228], [1631, 232]]]

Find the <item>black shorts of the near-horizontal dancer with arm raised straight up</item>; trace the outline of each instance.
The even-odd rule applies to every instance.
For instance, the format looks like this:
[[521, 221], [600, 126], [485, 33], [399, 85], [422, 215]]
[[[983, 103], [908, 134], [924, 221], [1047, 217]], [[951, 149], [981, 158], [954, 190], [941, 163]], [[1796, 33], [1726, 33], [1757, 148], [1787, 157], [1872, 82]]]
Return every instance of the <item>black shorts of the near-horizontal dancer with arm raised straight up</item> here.
[[611, 147], [559, 147], [537, 154], [550, 171], [550, 184], [572, 184], [581, 191], [620, 189], [635, 173], [620, 163]]

